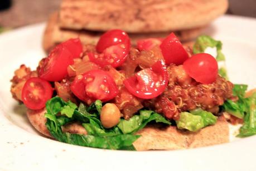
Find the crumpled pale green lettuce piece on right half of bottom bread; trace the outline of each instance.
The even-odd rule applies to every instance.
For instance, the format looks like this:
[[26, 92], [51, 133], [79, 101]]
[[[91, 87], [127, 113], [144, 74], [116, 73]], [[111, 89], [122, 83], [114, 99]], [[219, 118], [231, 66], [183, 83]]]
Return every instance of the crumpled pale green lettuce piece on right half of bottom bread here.
[[216, 116], [212, 113], [197, 108], [188, 112], [182, 112], [180, 119], [176, 121], [178, 129], [187, 129], [190, 131], [198, 131], [205, 126], [213, 125], [217, 121]]

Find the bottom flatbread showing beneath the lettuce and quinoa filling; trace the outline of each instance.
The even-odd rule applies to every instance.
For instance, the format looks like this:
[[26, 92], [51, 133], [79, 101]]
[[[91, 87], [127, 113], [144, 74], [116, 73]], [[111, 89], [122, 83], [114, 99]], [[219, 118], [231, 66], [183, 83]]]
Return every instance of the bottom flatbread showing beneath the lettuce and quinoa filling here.
[[[31, 124], [41, 133], [51, 137], [45, 123], [46, 110], [27, 110]], [[86, 130], [78, 123], [65, 125], [64, 132], [86, 134]], [[215, 125], [207, 126], [196, 133], [178, 130], [175, 126], [149, 125], [138, 131], [142, 135], [133, 145], [142, 150], [176, 150], [197, 148], [229, 142], [229, 126], [224, 116], [219, 117]]]

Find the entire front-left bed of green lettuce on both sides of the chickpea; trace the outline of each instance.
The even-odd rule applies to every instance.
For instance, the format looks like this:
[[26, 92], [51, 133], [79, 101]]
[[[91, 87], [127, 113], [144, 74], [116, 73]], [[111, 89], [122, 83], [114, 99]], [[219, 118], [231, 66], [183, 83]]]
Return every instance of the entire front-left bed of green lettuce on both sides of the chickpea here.
[[[155, 121], [170, 125], [162, 115], [151, 110], [141, 110], [129, 120], [120, 119], [117, 126], [106, 129], [100, 122], [102, 101], [96, 100], [89, 107], [81, 103], [76, 106], [73, 102], [65, 102], [60, 97], [53, 97], [46, 103], [46, 127], [50, 134], [64, 143], [90, 146], [104, 149], [134, 150], [132, 143], [139, 138], [134, 135], [149, 122]], [[79, 121], [87, 135], [62, 132], [61, 126]]]

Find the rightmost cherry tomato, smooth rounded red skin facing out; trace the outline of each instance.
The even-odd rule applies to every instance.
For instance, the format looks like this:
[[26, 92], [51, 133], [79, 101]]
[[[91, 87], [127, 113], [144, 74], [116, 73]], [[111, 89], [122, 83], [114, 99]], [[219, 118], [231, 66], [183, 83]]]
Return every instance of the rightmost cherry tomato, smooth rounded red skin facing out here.
[[218, 63], [208, 53], [197, 53], [183, 63], [190, 77], [202, 84], [211, 84], [218, 76]]

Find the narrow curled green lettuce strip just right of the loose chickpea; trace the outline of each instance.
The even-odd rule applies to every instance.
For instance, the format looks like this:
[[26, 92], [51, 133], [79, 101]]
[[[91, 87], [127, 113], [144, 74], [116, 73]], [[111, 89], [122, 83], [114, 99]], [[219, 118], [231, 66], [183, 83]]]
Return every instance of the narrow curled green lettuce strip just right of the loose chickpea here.
[[133, 134], [144, 128], [144, 126], [151, 121], [171, 125], [170, 121], [166, 120], [162, 115], [155, 113], [152, 110], [140, 110], [139, 115], [134, 115], [129, 120], [121, 119], [117, 127], [122, 131], [123, 134]]

